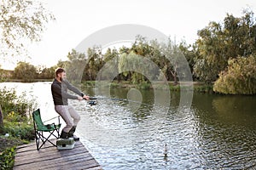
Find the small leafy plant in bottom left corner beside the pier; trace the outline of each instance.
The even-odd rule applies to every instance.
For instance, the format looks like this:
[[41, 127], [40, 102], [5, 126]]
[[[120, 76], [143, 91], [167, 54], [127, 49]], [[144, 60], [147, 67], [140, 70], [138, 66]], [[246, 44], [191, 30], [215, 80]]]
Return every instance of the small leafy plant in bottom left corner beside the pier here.
[[15, 149], [16, 147], [7, 148], [0, 155], [0, 169], [12, 169], [15, 165]]

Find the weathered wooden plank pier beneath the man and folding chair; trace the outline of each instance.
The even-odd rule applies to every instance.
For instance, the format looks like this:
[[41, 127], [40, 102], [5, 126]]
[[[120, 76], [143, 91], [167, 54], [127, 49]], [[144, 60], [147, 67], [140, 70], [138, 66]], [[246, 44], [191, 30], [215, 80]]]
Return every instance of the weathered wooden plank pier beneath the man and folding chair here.
[[84, 145], [77, 141], [73, 150], [57, 150], [49, 144], [37, 150], [35, 142], [20, 145], [16, 150], [14, 169], [101, 170], [102, 167]]

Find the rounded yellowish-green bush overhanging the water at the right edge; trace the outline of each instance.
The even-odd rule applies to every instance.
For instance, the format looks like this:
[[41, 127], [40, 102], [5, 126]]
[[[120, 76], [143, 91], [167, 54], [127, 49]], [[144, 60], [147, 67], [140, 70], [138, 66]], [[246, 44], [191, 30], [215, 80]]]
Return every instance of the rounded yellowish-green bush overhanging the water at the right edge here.
[[219, 74], [213, 90], [221, 94], [256, 94], [256, 57], [230, 59], [227, 71]]

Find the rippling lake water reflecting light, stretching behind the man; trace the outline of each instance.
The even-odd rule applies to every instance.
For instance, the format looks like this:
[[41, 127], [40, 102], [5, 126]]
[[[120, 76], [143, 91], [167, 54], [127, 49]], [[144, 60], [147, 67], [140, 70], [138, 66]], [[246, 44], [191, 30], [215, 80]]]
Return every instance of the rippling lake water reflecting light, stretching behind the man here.
[[[36, 99], [43, 119], [56, 116], [50, 82], [0, 83], [5, 85]], [[95, 94], [93, 88], [83, 90]], [[127, 94], [128, 89], [111, 90], [115, 98]], [[70, 101], [81, 115], [77, 133], [103, 169], [256, 168], [256, 96], [194, 94], [188, 110], [178, 107], [180, 95], [171, 92], [165, 113], [160, 107], [152, 109], [153, 90], [140, 94], [142, 105], [102, 99], [90, 106], [86, 101]]]

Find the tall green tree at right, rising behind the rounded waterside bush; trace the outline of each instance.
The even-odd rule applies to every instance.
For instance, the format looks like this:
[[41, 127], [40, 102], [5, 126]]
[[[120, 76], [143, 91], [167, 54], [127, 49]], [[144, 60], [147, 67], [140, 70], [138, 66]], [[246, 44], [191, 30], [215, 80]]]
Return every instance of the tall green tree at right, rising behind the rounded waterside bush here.
[[245, 10], [241, 17], [227, 14], [223, 23], [210, 22], [198, 31], [194, 74], [211, 83], [224, 71], [229, 59], [247, 57], [256, 52], [256, 24], [253, 12]]

